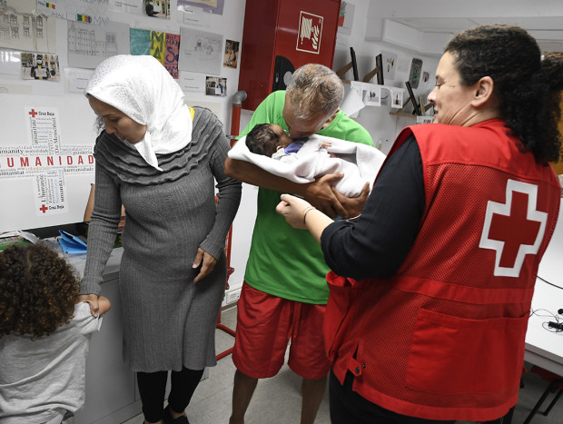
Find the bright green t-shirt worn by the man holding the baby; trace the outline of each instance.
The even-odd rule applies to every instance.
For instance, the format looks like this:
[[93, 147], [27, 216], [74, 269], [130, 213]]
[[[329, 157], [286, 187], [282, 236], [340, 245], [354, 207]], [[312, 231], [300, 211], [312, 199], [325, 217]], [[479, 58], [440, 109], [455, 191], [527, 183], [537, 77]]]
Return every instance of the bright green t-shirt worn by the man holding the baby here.
[[[251, 122], [242, 131], [246, 135], [258, 123], [277, 123], [287, 130], [283, 120], [285, 91], [270, 94], [258, 105]], [[319, 134], [356, 143], [373, 145], [370, 133], [346, 114], [339, 112]], [[252, 245], [244, 281], [254, 289], [283, 299], [326, 304], [329, 271], [321, 246], [305, 230], [295, 230], [275, 212], [281, 192], [259, 189], [258, 209]]]

